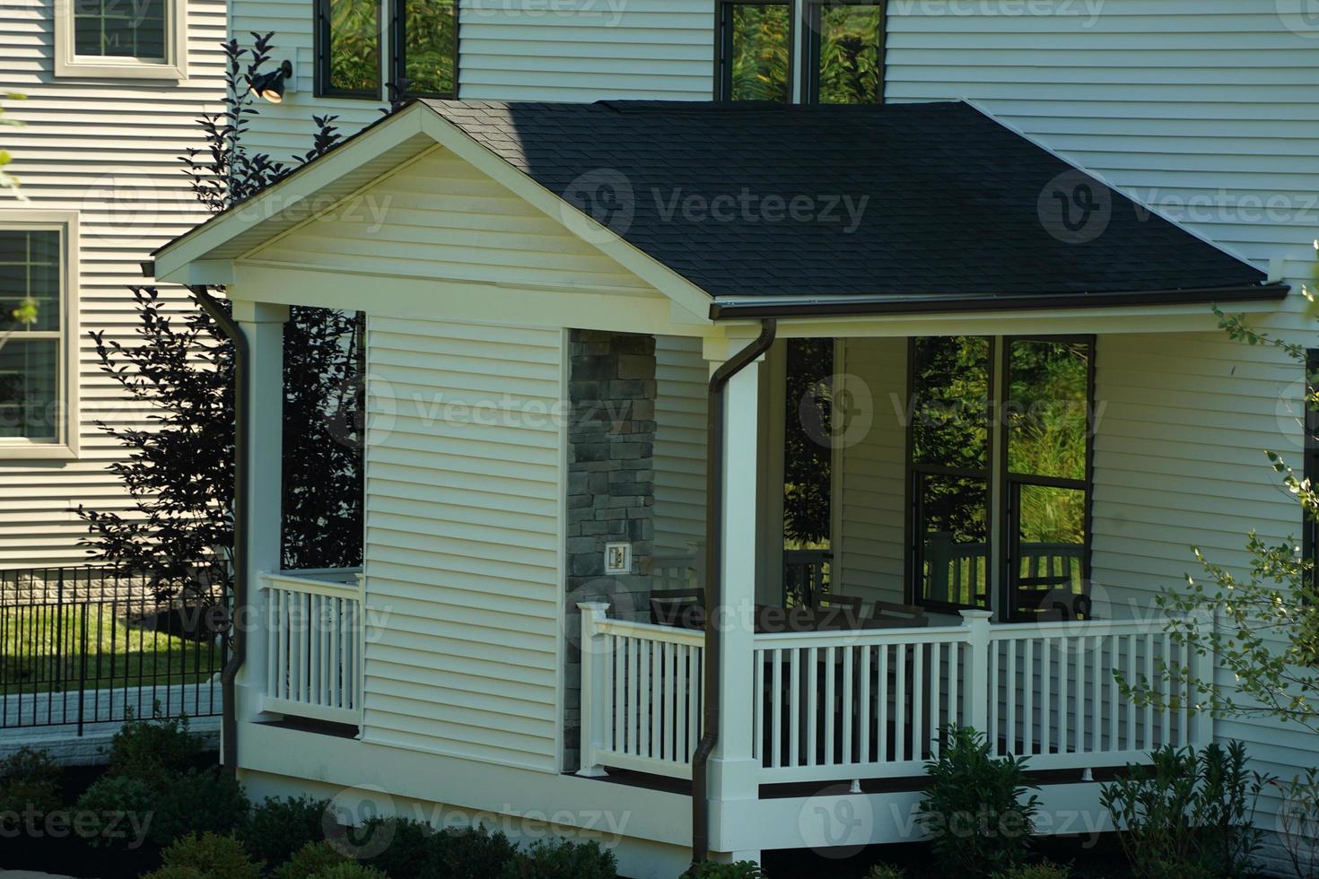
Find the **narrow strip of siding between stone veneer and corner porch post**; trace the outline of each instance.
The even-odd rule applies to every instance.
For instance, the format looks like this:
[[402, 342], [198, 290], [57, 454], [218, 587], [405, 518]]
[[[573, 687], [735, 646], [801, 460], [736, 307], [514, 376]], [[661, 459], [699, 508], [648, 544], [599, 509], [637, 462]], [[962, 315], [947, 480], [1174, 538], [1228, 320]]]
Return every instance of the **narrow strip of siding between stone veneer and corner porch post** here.
[[700, 340], [656, 336], [656, 552], [706, 538], [706, 387]]

